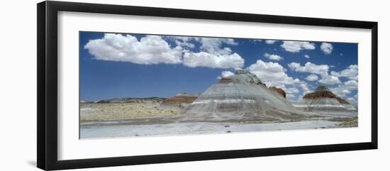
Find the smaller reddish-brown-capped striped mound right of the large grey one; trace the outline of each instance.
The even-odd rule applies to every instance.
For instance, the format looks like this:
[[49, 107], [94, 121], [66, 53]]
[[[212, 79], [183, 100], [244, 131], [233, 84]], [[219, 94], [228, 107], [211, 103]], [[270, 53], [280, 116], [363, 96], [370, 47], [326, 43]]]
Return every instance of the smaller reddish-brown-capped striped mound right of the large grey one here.
[[330, 92], [328, 87], [320, 85], [314, 92], [305, 94], [302, 101], [294, 101], [293, 105], [304, 111], [353, 111], [356, 110], [345, 99]]

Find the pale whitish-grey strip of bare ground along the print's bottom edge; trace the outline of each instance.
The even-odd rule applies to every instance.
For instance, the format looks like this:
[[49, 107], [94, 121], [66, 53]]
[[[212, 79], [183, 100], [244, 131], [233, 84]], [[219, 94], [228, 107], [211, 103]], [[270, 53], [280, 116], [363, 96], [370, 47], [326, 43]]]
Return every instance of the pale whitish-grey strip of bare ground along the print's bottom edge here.
[[167, 123], [151, 125], [82, 126], [80, 138], [116, 138], [134, 136], [171, 136], [199, 133], [239, 133], [291, 129], [330, 128], [338, 121], [299, 121], [285, 123]]

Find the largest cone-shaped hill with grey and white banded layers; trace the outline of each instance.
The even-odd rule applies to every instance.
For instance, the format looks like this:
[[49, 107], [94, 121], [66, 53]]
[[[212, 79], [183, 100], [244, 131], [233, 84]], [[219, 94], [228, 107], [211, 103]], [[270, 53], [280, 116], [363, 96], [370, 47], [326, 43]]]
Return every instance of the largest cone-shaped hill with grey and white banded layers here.
[[299, 116], [283, 92], [269, 89], [249, 71], [237, 70], [235, 75], [223, 77], [206, 89], [184, 113], [189, 120], [204, 121], [279, 121]]

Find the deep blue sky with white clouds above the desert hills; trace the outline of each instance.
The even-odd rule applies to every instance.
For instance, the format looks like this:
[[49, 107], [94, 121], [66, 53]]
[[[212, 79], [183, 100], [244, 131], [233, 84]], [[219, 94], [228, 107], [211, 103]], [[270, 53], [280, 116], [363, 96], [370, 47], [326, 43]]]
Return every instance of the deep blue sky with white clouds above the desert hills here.
[[357, 44], [80, 32], [80, 96], [174, 96], [204, 92], [250, 70], [299, 100], [325, 84], [357, 102]]

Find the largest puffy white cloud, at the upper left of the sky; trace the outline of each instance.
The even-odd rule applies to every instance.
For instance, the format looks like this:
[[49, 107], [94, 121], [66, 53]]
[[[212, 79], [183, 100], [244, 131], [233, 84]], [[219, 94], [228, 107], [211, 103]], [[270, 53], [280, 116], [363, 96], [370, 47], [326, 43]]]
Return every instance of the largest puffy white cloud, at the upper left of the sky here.
[[89, 40], [84, 45], [96, 60], [133, 62], [135, 64], [178, 64], [182, 62], [182, 48], [171, 46], [158, 35], [147, 35], [138, 40], [133, 35], [106, 33], [104, 38]]

